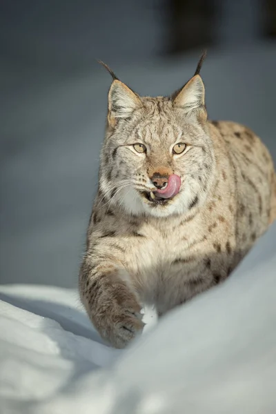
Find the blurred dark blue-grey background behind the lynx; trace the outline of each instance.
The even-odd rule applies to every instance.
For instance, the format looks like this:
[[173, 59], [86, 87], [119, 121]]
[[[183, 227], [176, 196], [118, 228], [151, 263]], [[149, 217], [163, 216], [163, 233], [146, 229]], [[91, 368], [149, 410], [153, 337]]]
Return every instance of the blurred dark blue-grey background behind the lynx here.
[[168, 95], [201, 70], [208, 114], [276, 160], [276, 0], [2, 0], [0, 283], [77, 286], [110, 77]]

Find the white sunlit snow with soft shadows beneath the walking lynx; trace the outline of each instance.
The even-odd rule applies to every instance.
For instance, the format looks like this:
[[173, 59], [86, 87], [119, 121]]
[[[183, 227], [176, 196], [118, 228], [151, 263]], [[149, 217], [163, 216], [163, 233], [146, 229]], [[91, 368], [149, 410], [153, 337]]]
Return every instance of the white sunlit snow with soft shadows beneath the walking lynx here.
[[274, 413], [276, 224], [224, 284], [126, 350], [103, 344], [74, 289], [0, 288], [1, 414]]

